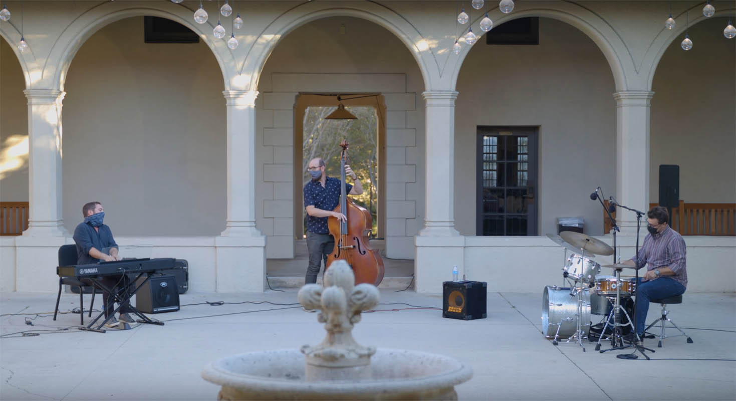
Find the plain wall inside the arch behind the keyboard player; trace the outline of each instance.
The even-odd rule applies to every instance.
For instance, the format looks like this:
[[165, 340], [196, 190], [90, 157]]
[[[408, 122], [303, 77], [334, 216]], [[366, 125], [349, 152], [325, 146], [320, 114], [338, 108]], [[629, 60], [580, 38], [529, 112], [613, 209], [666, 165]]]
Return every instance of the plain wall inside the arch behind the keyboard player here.
[[204, 43], [146, 44], [144, 18], [96, 32], [77, 52], [63, 107], [69, 230], [98, 200], [116, 235], [224, 230], [225, 101]]

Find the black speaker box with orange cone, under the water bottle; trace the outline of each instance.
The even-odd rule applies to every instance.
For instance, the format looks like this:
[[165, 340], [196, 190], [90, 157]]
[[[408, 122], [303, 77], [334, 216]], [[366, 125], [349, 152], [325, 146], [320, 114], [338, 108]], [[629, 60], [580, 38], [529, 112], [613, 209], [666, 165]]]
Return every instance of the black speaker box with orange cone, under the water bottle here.
[[485, 319], [487, 283], [483, 281], [445, 281], [442, 283], [442, 317]]

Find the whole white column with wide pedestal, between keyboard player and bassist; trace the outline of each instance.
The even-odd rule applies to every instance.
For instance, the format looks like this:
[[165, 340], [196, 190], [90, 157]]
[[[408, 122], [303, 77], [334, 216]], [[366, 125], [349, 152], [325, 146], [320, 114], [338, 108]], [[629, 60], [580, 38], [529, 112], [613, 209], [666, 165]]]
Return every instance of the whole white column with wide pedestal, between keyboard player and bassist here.
[[255, 227], [255, 98], [224, 91], [227, 101], [227, 221], [215, 238], [218, 292], [263, 291], [266, 237]]

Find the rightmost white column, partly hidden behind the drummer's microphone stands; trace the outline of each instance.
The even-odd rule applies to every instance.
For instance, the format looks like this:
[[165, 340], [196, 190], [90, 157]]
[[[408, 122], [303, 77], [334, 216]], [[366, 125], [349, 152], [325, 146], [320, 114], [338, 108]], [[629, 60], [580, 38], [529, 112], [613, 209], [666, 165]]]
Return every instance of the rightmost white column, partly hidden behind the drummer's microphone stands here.
[[[649, 208], [649, 110], [652, 96], [654, 92], [651, 91], [613, 94], [616, 99], [616, 198], [621, 205], [643, 212]], [[619, 208], [616, 216], [623, 235], [636, 235], [636, 213]]]

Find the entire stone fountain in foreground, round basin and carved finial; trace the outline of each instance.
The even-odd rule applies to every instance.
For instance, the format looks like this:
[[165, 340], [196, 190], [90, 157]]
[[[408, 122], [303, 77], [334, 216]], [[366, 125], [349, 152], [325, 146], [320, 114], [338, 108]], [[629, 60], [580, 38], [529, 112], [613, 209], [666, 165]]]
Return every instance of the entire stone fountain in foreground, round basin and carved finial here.
[[365, 347], [353, 339], [361, 310], [378, 305], [374, 285], [354, 285], [336, 260], [322, 285], [304, 285], [299, 302], [319, 309], [327, 336], [314, 346], [233, 355], [210, 363], [202, 377], [222, 386], [218, 400], [457, 400], [454, 386], [470, 366], [427, 352]]

